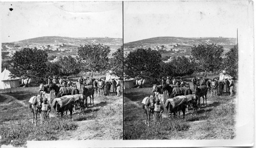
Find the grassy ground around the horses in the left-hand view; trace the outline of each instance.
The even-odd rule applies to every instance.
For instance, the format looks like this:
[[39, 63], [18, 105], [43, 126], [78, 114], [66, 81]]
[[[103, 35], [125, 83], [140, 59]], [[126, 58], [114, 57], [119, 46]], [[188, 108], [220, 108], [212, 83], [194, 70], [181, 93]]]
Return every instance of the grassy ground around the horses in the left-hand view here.
[[[78, 85], [79, 86], [79, 85]], [[96, 97], [84, 115], [80, 110], [62, 118], [54, 109], [50, 120], [36, 127], [32, 124], [29, 99], [38, 94], [38, 87], [18, 87], [0, 92], [0, 145], [24, 146], [26, 140], [122, 139], [122, 96]], [[90, 103], [90, 99], [89, 99]]]

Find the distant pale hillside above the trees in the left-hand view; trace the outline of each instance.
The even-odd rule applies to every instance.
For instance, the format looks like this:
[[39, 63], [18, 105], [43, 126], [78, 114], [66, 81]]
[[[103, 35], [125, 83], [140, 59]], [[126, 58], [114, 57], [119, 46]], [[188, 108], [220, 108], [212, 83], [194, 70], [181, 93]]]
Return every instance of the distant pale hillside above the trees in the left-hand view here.
[[79, 46], [84, 44], [103, 44], [109, 46], [121, 46], [120, 38], [69, 38], [69, 37], [38, 37], [33, 39], [22, 40], [18, 42], [2, 43], [3, 45], [48, 45], [48, 44], [67, 44], [71, 46]]

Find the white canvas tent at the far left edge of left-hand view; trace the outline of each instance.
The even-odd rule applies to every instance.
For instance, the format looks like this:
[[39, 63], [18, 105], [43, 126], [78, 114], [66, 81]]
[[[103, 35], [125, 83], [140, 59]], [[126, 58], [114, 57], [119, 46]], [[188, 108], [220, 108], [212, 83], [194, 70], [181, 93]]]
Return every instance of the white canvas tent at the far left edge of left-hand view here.
[[0, 74], [0, 90], [5, 90], [7, 88], [19, 87], [19, 78], [12, 79], [10, 77], [11, 72], [5, 69]]

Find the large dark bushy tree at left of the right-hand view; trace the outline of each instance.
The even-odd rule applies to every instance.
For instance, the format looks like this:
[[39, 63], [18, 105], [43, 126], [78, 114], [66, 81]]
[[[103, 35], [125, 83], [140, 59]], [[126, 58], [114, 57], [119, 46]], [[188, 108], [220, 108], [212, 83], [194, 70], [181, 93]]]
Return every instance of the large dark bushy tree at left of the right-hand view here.
[[157, 78], [160, 73], [161, 54], [148, 49], [137, 49], [126, 58], [125, 74], [130, 77]]

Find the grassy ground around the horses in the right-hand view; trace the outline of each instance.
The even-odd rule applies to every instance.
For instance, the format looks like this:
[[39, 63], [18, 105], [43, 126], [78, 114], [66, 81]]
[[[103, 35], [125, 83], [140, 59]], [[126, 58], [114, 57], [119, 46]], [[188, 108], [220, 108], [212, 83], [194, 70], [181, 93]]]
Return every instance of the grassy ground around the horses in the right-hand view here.
[[[193, 87], [193, 85], [190, 86]], [[192, 88], [194, 92], [194, 89]], [[235, 96], [208, 97], [207, 105], [201, 106], [198, 114], [188, 110], [183, 119], [168, 117], [164, 109], [163, 120], [153, 125], [153, 116], [149, 127], [145, 125], [145, 113], [142, 109], [143, 98], [152, 95], [152, 87], [132, 88], [124, 94], [124, 139], [233, 139], [236, 137]], [[165, 96], [165, 100], [168, 96]], [[201, 99], [202, 104], [202, 99]]]

